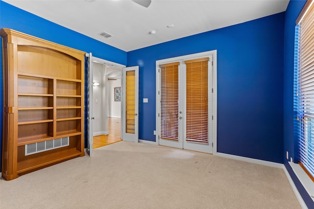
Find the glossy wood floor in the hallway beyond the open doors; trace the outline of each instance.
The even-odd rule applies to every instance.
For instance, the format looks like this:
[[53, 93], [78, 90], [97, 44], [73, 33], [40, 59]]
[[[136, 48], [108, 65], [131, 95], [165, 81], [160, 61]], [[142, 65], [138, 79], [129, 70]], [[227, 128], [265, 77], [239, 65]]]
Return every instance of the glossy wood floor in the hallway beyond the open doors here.
[[103, 147], [121, 141], [121, 119], [108, 117], [108, 135], [98, 135], [93, 137], [93, 149]]

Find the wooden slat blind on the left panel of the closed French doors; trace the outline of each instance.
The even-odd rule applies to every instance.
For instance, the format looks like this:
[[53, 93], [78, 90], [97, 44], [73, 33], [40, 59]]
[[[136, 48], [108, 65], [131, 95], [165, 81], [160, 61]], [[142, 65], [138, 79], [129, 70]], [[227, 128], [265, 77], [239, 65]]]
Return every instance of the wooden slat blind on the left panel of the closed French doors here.
[[160, 137], [178, 141], [179, 65], [160, 65]]

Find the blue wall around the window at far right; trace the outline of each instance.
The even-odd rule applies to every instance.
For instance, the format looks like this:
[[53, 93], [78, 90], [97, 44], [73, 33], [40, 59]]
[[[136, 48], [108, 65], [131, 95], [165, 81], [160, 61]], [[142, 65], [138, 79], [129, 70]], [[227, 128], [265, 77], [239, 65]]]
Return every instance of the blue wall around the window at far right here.
[[314, 203], [306, 192], [298, 178], [295, 176], [288, 160], [286, 158], [286, 151], [289, 157], [293, 158], [293, 162], [298, 162], [298, 139], [294, 135], [294, 128], [297, 125], [295, 120], [296, 114], [293, 112], [293, 77], [294, 77], [294, 29], [295, 21], [300, 14], [306, 0], [290, 0], [286, 10], [285, 19], [285, 48], [284, 48], [284, 163], [285, 166], [301, 194], [305, 204], [308, 208], [314, 208]]

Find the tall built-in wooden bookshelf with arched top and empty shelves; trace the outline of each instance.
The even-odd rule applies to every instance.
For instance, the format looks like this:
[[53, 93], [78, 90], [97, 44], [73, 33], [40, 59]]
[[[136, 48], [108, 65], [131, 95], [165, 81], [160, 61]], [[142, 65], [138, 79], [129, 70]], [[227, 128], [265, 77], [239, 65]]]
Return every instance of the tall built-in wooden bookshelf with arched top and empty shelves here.
[[2, 177], [12, 180], [84, 156], [85, 52], [12, 29], [0, 34]]

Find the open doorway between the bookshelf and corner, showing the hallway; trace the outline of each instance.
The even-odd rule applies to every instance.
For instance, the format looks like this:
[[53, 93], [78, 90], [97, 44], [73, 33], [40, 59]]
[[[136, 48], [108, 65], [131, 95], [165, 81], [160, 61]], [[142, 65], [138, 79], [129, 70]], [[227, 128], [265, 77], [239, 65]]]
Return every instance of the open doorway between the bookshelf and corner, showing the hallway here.
[[121, 72], [93, 62], [93, 149], [121, 141]]

